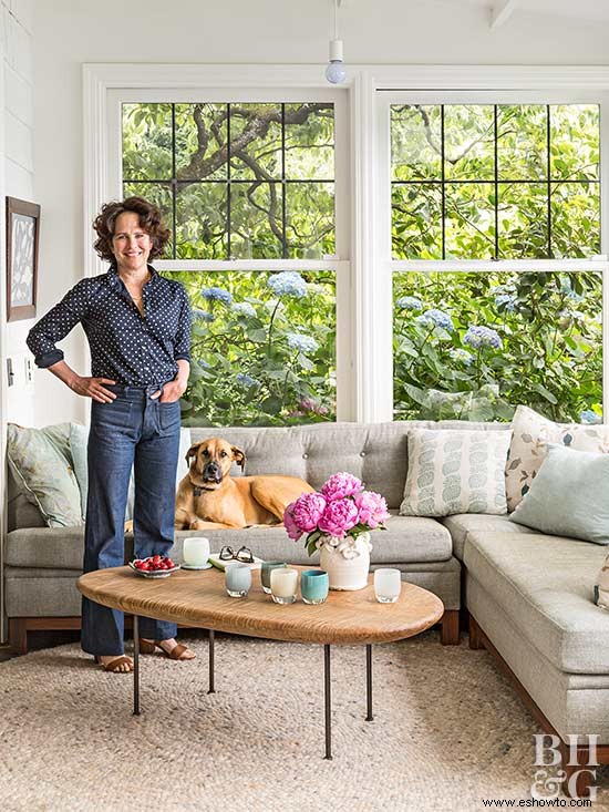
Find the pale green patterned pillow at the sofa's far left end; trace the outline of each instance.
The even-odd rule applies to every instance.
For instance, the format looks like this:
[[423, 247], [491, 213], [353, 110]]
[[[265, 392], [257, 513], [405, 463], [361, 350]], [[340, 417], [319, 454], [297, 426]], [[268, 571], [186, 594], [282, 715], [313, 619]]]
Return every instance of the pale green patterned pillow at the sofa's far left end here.
[[9, 423], [7, 441], [14, 482], [49, 527], [82, 524], [79, 483], [70, 454], [70, 424], [25, 429]]

